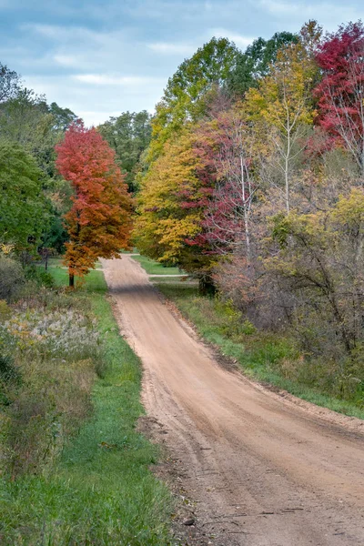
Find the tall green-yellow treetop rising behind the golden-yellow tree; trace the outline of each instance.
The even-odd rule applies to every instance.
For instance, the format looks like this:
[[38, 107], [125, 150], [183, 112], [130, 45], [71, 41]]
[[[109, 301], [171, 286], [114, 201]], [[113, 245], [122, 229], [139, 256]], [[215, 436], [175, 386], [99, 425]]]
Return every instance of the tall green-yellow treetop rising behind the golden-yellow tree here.
[[178, 66], [168, 80], [152, 119], [149, 162], [161, 153], [169, 136], [180, 131], [187, 122], [196, 122], [204, 116], [209, 94], [226, 82], [237, 56], [237, 47], [227, 38], [214, 37]]

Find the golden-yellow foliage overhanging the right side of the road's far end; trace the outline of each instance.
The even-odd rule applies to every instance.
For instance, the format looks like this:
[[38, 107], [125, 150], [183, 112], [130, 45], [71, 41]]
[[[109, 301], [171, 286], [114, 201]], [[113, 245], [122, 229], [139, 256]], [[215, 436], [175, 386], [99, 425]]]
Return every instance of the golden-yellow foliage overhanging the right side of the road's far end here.
[[[194, 136], [185, 132], [167, 142], [164, 153], [149, 167], [142, 180], [134, 238], [139, 250], [161, 262], [178, 263], [186, 239], [200, 231], [201, 211], [193, 207], [200, 197], [194, 153]], [[186, 202], [191, 207], [184, 207]]]

